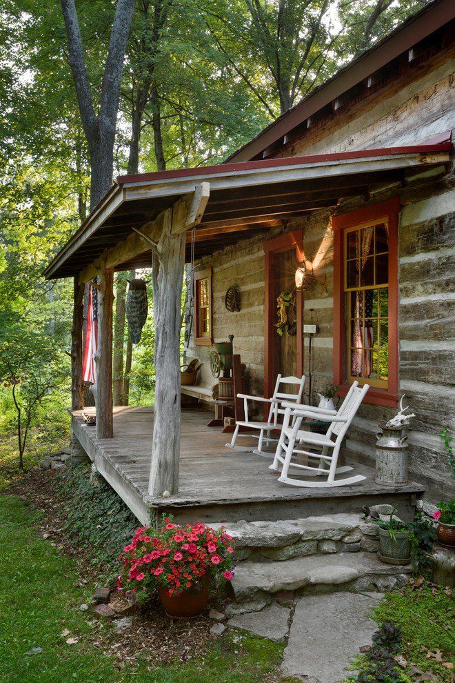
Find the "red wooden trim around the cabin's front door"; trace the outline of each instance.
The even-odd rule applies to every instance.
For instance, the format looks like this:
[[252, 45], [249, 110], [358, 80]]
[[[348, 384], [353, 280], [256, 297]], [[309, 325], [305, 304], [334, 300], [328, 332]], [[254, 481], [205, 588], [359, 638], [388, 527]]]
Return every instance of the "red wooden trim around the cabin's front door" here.
[[[303, 260], [303, 229], [285, 232], [284, 235], [263, 242], [265, 253], [264, 273], [264, 396], [272, 396], [274, 390], [273, 349], [276, 335], [276, 301], [273, 300], [273, 261], [274, 254], [295, 247], [297, 261]], [[296, 375], [303, 375], [303, 292], [296, 293]]]

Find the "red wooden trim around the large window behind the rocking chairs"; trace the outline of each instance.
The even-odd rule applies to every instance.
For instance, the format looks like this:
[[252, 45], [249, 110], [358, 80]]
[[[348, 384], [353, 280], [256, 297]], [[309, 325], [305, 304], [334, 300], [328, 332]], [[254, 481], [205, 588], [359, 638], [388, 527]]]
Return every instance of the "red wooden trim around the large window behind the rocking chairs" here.
[[332, 218], [334, 230], [334, 384], [345, 396], [350, 385], [345, 382], [345, 306], [343, 230], [367, 221], [389, 220], [389, 386], [372, 387], [365, 403], [396, 407], [398, 402], [398, 215], [400, 198], [394, 197]]

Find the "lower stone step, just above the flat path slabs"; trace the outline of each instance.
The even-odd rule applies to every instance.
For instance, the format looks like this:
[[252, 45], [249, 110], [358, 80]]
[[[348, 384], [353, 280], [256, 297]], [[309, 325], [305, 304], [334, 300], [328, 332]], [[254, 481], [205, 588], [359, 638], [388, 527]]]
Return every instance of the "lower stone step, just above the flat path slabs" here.
[[307, 593], [379, 591], [400, 588], [409, 580], [412, 566], [384, 564], [373, 553], [310, 555], [282, 562], [240, 562], [231, 590], [235, 603], [230, 613], [255, 611], [274, 597], [293, 600]]

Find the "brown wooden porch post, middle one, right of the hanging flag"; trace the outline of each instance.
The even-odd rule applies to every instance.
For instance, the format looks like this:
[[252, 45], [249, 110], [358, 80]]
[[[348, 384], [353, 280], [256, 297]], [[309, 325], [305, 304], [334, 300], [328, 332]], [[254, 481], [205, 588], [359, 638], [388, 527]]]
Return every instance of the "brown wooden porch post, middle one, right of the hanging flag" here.
[[112, 439], [112, 304], [114, 269], [101, 261], [98, 274], [97, 439]]

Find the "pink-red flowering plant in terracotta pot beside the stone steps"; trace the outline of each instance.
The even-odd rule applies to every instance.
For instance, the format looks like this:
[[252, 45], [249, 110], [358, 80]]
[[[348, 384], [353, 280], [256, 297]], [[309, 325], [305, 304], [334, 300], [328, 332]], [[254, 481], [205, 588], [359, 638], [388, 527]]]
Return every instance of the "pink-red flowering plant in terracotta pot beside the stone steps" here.
[[164, 517], [159, 531], [141, 526], [123, 548], [117, 588], [139, 604], [158, 594], [170, 617], [195, 617], [207, 604], [210, 587], [234, 575], [230, 544], [223, 527], [180, 526]]

